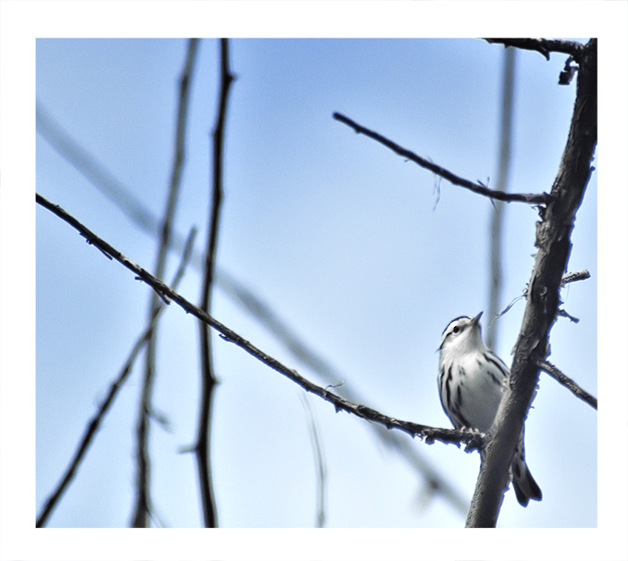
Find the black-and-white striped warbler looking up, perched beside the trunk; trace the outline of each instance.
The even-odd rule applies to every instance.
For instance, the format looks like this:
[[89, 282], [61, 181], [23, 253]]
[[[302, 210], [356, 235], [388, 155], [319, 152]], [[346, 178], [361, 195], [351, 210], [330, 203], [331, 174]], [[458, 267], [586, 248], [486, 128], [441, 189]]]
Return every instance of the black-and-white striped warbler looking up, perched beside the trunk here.
[[[502, 400], [502, 387], [509, 368], [482, 341], [480, 312], [449, 322], [440, 340], [440, 403], [454, 427], [487, 433]], [[540, 501], [541, 489], [528, 470], [523, 450], [523, 432], [515, 452], [510, 477], [519, 505]]]

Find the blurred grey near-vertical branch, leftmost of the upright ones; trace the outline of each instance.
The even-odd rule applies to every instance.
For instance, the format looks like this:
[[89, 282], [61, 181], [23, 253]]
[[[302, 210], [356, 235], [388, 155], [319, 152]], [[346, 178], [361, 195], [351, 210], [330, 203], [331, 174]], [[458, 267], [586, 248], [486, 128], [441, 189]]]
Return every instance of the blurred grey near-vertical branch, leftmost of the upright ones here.
[[[174, 220], [174, 213], [179, 199], [179, 185], [183, 161], [185, 160], [185, 137], [188, 122], [188, 90], [190, 77], [196, 60], [197, 39], [188, 42], [188, 56], [179, 79], [179, 114], [177, 117], [177, 138], [175, 142], [174, 162], [170, 177], [168, 203], [161, 224], [160, 246], [157, 255], [155, 275], [163, 278], [166, 268], [166, 256], [170, 246], [170, 230]], [[153, 292], [150, 303], [149, 321], [160, 306], [160, 298]], [[142, 387], [142, 401], [140, 403], [139, 419], [137, 421], [137, 489], [135, 496], [135, 513], [133, 527], [146, 528], [149, 524], [150, 512], [150, 463], [148, 458], [148, 432], [151, 413], [151, 395], [153, 394], [153, 380], [155, 372], [155, 345], [157, 326], [153, 327], [146, 348], [146, 364], [144, 367], [144, 383]]]

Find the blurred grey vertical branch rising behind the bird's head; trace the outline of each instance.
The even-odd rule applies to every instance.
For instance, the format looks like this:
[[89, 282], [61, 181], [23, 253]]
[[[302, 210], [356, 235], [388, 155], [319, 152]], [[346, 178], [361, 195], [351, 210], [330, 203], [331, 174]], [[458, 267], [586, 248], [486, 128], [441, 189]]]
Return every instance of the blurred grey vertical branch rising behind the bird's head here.
[[[512, 144], [512, 99], [514, 97], [514, 77], [517, 49], [507, 47], [503, 58], [503, 89], [502, 89], [502, 126], [500, 133], [500, 168], [497, 176], [499, 191], [508, 188], [510, 172], [510, 152]], [[497, 330], [495, 318], [499, 314], [502, 297], [502, 223], [503, 203], [493, 201], [495, 210], [491, 221], [491, 284], [488, 306], [488, 328], [486, 330], [486, 344], [489, 349], [497, 347]]]

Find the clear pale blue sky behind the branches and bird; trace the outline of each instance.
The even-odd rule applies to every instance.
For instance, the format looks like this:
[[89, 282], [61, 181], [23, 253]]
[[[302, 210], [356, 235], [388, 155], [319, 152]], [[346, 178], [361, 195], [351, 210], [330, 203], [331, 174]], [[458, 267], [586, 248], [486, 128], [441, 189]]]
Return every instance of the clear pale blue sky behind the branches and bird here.
[[[187, 159], [176, 229], [205, 245], [209, 154], [217, 94], [216, 39], [203, 40], [191, 84]], [[155, 215], [172, 161], [183, 39], [39, 39], [37, 98], [84, 150]], [[493, 186], [498, 168], [504, 49], [478, 39], [235, 39], [226, 129], [218, 266], [333, 364], [345, 388], [397, 419], [449, 427], [436, 388], [440, 332], [485, 310], [492, 203], [418, 168], [332, 118], [334, 111], [454, 173]], [[511, 191], [549, 191], [569, 129], [575, 84], [557, 85], [565, 56], [516, 60]], [[155, 239], [37, 137], [38, 192], [153, 270]], [[437, 190], [439, 193], [437, 193]], [[502, 307], [518, 298], [535, 253], [536, 210], [505, 208]], [[551, 360], [597, 393], [597, 173], [578, 213]], [[167, 279], [179, 262], [171, 254]], [[197, 300], [190, 269], [180, 292]], [[37, 209], [37, 508], [57, 483], [87, 420], [144, 327], [150, 291]], [[524, 310], [499, 322], [510, 362]], [[161, 321], [153, 405], [153, 504], [164, 524], [200, 523], [193, 442], [197, 326], [177, 306]], [[214, 315], [319, 384], [223, 290]], [[484, 322], [487, 320], [486, 318]], [[224, 527], [308, 527], [316, 478], [301, 390], [215, 337], [214, 488]], [[138, 365], [143, 364], [139, 361]], [[135, 367], [51, 526], [125, 526], [133, 508]], [[343, 390], [339, 390], [340, 393]], [[327, 468], [327, 525], [456, 527], [460, 513], [382, 446], [361, 419], [307, 396]], [[470, 501], [476, 454], [412, 442]], [[506, 495], [500, 526], [597, 525], [597, 414], [541, 375], [527, 424], [528, 465], [542, 503]], [[573, 466], [578, 466], [577, 470]]]

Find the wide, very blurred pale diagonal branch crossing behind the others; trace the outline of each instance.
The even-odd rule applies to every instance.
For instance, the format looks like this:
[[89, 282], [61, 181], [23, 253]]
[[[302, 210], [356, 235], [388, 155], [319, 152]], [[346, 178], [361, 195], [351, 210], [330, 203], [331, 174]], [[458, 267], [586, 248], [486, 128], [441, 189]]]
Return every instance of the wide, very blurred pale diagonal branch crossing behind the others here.
[[[87, 177], [92, 182], [92, 185], [101, 194], [108, 197], [118, 210], [136, 226], [139, 226], [151, 236], [159, 234], [159, 220], [153, 215], [152, 211], [141, 200], [137, 199], [128, 187], [113, 177], [109, 170], [92, 154], [86, 151], [78, 142], [75, 142], [52, 117], [49, 117], [48, 112], [39, 101], [37, 103], [37, 130], [62, 158], [65, 158], [74, 168]], [[184, 242], [185, 239], [179, 232], [176, 230], [170, 232], [170, 248], [176, 250], [179, 255], [183, 251]], [[191, 264], [200, 270], [204, 261], [205, 259], [200, 252], [195, 251]], [[292, 353], [294, 358], [314, 370], [327, 384], [335, 384], [338, 380], [345, 377], [320, 353], [312, 350], [310, 345], [283, 318], [276, 314], [272, 306], [269, 306], [263, 298], [260, 298], [259, 295], [231, 273], [217, 269], [214, 280], [218, 288], [222, 289], [244, 310], [254, 316], [269, 332], [272, 332], [277, 340], [281, 341], [285, 348]], [[343, 393], [347, 399], [362, 401], [362, 398], [348, 386], [343, 388]], [[409, 462], [415, 470], [419, 471], [427, 479], [427, 484], [430, 488], [438, 490], [441, 496], [458, 510], [458, 513], [462, 515], [467, 514], [467, 499], [461, 496], [457, 489], [453, 488], [447, 480], [441, 477], [439, 470], [432, 467], [430, 462], [419, 453], [416, 446], [408, 443], [404, 436], [396, 432], [390, 432], [380, 425], [373, 424], [371, 427], [389, 450], [397, 453], [406, 462]]]

